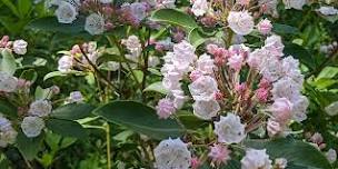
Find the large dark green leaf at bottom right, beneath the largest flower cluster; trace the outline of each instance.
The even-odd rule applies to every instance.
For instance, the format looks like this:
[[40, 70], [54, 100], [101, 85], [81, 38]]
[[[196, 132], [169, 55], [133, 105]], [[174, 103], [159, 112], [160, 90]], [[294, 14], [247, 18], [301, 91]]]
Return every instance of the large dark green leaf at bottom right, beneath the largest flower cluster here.
[[[246, 143], [250, 148], [267, 149], [271, 159], [286, 158], [288, 163], [295, 166], [306, 166], [307, 168], [331, 169], [331, 165], [326, 157], [314, 146], [292, 139], [248, 140]], [[290, 167], [289, 167], [290, 168]], [[290, 169], [297, 169], [290, 168]]]

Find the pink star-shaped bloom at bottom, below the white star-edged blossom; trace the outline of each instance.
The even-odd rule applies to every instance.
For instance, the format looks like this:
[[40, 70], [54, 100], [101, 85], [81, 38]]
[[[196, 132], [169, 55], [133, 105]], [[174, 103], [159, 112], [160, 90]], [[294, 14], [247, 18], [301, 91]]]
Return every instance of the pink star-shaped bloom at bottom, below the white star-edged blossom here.
[[227, 146], [213, 143], [213, 146], [210, 147], [208, 156], [212, 159], [212, 162], [216, 162], [219, 166], [221, 163], [227, 163], [227, 161], [231, 159], [230, 153], [231, 151]]

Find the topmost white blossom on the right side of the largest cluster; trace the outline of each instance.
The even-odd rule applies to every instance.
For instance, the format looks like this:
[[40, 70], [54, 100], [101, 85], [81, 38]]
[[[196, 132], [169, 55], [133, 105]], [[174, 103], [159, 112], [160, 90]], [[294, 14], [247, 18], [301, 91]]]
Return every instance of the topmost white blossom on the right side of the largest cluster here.
[[268, 37], [265, 41], [265, 47], [266, 50], [270, 52], [270, 54], [275, 57], [281, 57], [284, 56], [282, 50], [284, 50], [284, 44], [281, 41], [281, 38], [279, 36], [272, 34]]

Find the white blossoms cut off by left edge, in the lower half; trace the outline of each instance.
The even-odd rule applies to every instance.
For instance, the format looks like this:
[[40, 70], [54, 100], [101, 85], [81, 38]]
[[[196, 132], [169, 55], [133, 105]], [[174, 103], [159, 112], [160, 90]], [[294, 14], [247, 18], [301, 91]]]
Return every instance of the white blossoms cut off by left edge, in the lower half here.
[[7, 147], [14, 143], [18, 132], [13, 129], [11, 122], [0, 115], [0, 147]]

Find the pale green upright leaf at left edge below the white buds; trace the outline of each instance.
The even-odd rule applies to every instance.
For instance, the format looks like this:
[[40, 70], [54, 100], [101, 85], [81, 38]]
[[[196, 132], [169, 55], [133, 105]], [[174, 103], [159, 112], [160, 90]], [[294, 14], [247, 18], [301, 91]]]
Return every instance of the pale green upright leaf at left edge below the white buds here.
[[9, 49], [3, 49], [1, 58], [0, 70], [8, 72], [9, 74], [14, 74], [17, 70], [16, 58]]

